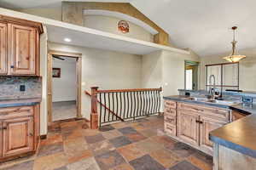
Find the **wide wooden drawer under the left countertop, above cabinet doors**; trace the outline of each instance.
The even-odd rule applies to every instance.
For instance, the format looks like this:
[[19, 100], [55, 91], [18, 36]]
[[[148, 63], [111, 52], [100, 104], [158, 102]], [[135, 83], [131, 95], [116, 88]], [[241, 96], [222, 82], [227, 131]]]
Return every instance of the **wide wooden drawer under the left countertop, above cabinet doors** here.
[[0, 109], [0, 119], [9, 119], [20, 116], [32, 116], [33, 106], [8, 107]]

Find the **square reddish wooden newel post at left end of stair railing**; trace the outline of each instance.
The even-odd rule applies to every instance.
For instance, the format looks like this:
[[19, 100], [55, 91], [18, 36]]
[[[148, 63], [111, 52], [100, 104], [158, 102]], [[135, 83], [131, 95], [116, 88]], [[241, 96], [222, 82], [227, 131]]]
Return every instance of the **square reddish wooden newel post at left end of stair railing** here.
[[98, 87], [91, 88], [91, 106], [90, 106], [90, 128], [97, 129], [99, 126], [98, 122], [98, 111], [97, 111], [97, 89]]

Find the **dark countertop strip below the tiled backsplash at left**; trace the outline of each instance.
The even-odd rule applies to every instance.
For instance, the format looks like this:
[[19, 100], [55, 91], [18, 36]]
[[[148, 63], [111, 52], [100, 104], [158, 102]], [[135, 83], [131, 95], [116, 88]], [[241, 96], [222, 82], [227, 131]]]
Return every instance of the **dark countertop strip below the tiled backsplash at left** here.
[[22, 106], [22, 105], [38, 105], [40, 102], [41, 102], [41, 98], [1, 99], [0, 100], [0, 108]]

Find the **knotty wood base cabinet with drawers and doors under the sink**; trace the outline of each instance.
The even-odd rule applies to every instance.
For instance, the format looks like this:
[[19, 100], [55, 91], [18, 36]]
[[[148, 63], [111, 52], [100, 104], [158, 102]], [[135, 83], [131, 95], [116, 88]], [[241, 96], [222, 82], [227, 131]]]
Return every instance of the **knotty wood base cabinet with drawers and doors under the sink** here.
[[173, 138], [212, 155], [209, 133], [230, 122], [230, 110], [165, 101], [165, 131]]

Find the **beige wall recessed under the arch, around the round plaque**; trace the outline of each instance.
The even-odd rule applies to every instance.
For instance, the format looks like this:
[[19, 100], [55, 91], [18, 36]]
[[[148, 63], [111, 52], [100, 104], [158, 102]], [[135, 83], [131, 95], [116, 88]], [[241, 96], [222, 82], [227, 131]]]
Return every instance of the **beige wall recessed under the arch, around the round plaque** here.
[[130, 32], [122, 33], [118, 30], [119, 18], [103, 15], [84, 15], [84, 26], [100, 31], [108, 31], [125, 37], [133, 37], [139, 40], [154, 42], [154, 36], [143, 27], [128, 21]]

